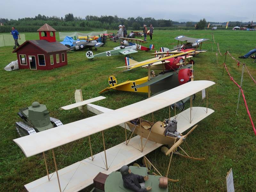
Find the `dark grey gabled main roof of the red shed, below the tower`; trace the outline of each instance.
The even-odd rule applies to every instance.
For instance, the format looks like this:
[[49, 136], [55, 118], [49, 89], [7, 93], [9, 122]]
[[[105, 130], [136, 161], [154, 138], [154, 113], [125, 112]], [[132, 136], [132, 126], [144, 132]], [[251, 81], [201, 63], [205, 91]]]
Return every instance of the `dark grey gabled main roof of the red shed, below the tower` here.
[[52, 52], [59, 52], [59, 51], [68, 51], [69, 48], [65, 45], [61, 44], [60, 42], [48, 42], [46, 40], [29, 40], [25, 41], [21, 44], [17, 49], [13, 51], [13, 53], [17, 52], [21, 47], [25, 46], [26, 44], [31, 43], [44, 51], [45, 53], [52, 53]]

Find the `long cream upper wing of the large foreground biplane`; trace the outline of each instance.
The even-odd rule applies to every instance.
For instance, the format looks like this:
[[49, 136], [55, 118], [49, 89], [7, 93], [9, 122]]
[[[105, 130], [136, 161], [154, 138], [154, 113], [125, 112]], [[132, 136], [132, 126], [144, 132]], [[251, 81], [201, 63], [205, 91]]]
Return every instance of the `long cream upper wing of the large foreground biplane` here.
[[213, 84], [215, 83], [212, 81], [191, 81], [146, 100], [36, 134], [17, 138], [13, 141], [22, 149], [27, 157], [33, 156], [104, 131], [118, 124], [145, 116], [185, 99]]

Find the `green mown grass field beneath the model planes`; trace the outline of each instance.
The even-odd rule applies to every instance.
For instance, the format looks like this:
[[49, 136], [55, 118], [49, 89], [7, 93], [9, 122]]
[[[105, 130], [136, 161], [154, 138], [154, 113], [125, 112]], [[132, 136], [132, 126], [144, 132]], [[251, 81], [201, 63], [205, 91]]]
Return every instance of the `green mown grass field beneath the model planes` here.
[[[153, 43], [155, 49], [159, 50], [162, 46], [172, 48], [177, 43], [174, 37], [179, 35], [210, 39], [202, 47], [209, 51], [194, 59], [196, 62], [194, 75], [195, 80], [211, 80], [216, 83], [209, 89], [209, 108], [215, 110], [215, 113], [200, 122], [187, 138], [194, 156], [205, 157], [205, 161], [199, 162], [173, 156], [169, 178], [180, 181], [169, 182], [169, 188], [172, 191], [226, 191], [225, 177], [232, 167], [236, 191], [255, 191], [255, 135], [242, 97], [240, 98], [238, 116], [236, 116], [238, 88], [230, 81], [226, 71], [222, 76], [222, 63], [225, 58], [218, 55], [219, 64], [217, 64], [217, 46], [212, 43], [212, 35], [209, 33], [212, 31], [155, 30], [153, 40], [148, 40], [147, 43], [147, 45]], [[213, 33], [215, 41], [220, 43], [220, 51], [224, 53], [228, 50], [236, 58], [255, 47], [253, 41], [256, 38], [256, 32], [254, 31], [216, 30]], [[38, 38], [37, 33], [26, 33], [26, 39]], [[117, 44], [108, 42], [108, 46], [99, 48], [97, 53], [110, 50], [114, 46]], [[89, 113], [82, 114], [77, 109], [58, 110], [61, 106], [70, 104], [70, 101], [74, 102], [72, 98], [75, 89], [82, 89], [84, 100], [89, 99], [98, 96], [98, 92], [108, 86], [109, 75], [116, 76], [120, 83], [127, 79], [133, 80], [147, 76], [147, 70], [137, 69], [123, 73], [122, 70], [116, 68], [124, 65], [123, 56], [88, 60], [85, 57], [85, 51], [81, 51], [69, 52], [68, 65], [65, 67], [51, 71], [16, 70], [8, 72], [3, 68], [17, 59], [16, 53], [12, 53], [12, 51], [12, 46], [0, 47], [0, 66], [2, 68], [0, 71], [0, 191], [25, 191], [25, 184], [45, 176], [46, 171], [42, 155], [26, 158], [21, 149], [12, 141], [19, 137], [15, 129], [15, 122], [20, 121], [17, 115], [19, 108], [29, 106], [33, 101], [39, 101], [47, 106], [52, 117], [67, 124], [91, 116]], [[135, 60], [142, 61], [148, 59], [149, 53], [138, 52], [132, 56]], [[242, 61], [246, 63], [252, 76], [256, 77], [256, 63], [252, 59]], [[236, 62], [230, 57], [227, 57], [226, 64], [236, 82], [240, 83], [242, 66], [238, 68]], [[246, 71], [244, 72], [243, 89], [252, 118], [256, 122], [256, 86]], [[147, 98], [147, 94], [116, 90], [110, 90], [102, 95], [107, 99], [95, 104], [111, 109], [124, 107]], [[200, 97], [200, 93], [197, 93], [195, 103], [205, 105]], [[167, 116], [168, 112], [165, 108], [157, 111], [155, 118], [162, 121]], [[100, 134], [95, 134], [92, 137], [94, 153], [103, 150], [100, 138]], [[105, 131], [105, 139], [107, 148], [110, 148], [125, 140], [124, 130], [120, 127], [109, 129]], [[90, 156], [89, 153], [87, 138], [56, 148], [58, 168], [82, 160]], [[52, 172], [54, 171], [52, 155], [50, 152], [46, 152], [46, 156], [48, 167]], [[166, 172], [169, 157], [161, 153], [160, 148], [147, 157], [160, 172]], [[89, 191], [91, 188], [88, 187], [84, 191]]]

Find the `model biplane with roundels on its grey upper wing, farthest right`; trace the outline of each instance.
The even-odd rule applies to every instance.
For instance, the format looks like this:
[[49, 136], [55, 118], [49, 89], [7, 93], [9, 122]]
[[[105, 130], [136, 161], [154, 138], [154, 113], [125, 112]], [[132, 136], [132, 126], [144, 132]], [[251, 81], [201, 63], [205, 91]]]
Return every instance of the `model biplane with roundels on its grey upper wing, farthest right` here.
[[[165, 47], [160, 48], [160, 53], [167, 53], [167, 52], [187, 52], [187, 51], [195, 51], [193, 55], [199, 54], [206, 52], [206, 50], [202, 50], [202, 44], [205, 41], [208, 41], [209, 39], [196, 39], [196, 38], [191, 38], [191, 37], [186, 37], [186, 36], [177, 36], [174, 38], [175, 40], [178, 40], [177, 46], [175, 46], [173, 49], [168, 49]], [[179, 45], [181, 41], [181, 44]], [[183, 43], [184, 42], [184, 43]], [[200, 47], [199, 50], [197, 50]], [[160, 54], [158, 53], [158, 54]], [[192, 55], [192, 54], [191, 54]]]

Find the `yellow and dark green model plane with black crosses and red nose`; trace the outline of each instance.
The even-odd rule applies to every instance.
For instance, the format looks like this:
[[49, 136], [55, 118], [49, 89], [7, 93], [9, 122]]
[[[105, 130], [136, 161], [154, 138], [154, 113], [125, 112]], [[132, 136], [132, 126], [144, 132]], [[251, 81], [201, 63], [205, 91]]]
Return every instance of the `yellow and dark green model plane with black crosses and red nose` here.
[[[126, 59], [128, 60], [129, 64], [124, 67], [128, 68], [127, 70], [139, 67], [148, 68], [148, 76], [137, 80], [125, 81], [120, 84], [117, 84], [117, 80], [114, 76], [109, 76], [109, 86], [100, 91], [100, 93], [108, 91], [109, 89], [116, 89], [119, 91], [147, 92], [148, 97], [150, 97], [151, 93], [158, 94], [160, 92], [164, 92], [179, 85], [185, 84], [191, 80], [193, 81], [193, 69], [190, 69], [191, 67], [193, 68], [193, 65], [186, 65], [186, 62], [184, 62], [184, 60], [189, 57], [187, 56], [187, 54], [192, 52], [193, 51], [182, 52], [167, 57], [153, 58], [137, 63], [136, 61], [134, 62], [134, 60]], [[184, 59], [182, 58], [182, 56], [184, 57]], [[175, 58], [178, 61], [177, 64], [171, 65], [172, 63], [170, 60], [173, 60]], [[150, 71], [152, 68], [161, 69], [163, 71], [156, 76], [155, 74], [153, 74], [153, 71]], [[184, 108], [185, 101], [186, 100], [180, 101], [179, 106], [181, 110]]]

